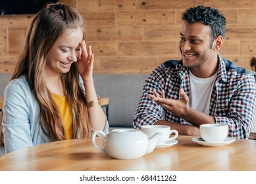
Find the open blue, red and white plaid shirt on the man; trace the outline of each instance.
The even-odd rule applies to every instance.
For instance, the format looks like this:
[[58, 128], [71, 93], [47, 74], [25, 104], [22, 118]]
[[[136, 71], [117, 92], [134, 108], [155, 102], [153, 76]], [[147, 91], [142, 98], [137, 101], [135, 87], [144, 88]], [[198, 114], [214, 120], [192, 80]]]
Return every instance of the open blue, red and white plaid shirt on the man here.
[[[218, 55], [217, 80], [213, 86], [209, 115], [216, 123], [228, 124], [228, 136], [247, 139], [253, 124], [256, 104], [256, 85], [253, 74], [236, 66], [230, 60]], [[187, 124], [186, 120], [175, 117], [163, 106], [155, 103], [147, 94], [155, 89], [161, 94], [165, 90], [167, 99], [180, 99], [182, 88], [190, 96], [190, 76], [182, 60], [168, 60], [158, 66], [145, 81], [134, 116], [134, 128], [154, 124], [158, 120]]]

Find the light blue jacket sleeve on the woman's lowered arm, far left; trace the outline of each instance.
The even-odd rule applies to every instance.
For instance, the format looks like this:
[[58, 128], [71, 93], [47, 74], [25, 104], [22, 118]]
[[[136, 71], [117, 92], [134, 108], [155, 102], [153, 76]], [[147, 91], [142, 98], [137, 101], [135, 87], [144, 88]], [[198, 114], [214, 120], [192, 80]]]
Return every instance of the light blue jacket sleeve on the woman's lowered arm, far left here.
[[11, 81], [5, 88], [2, 122], [5, 153], [33, 145], [26, 95], [28, 94], [15, 81]]

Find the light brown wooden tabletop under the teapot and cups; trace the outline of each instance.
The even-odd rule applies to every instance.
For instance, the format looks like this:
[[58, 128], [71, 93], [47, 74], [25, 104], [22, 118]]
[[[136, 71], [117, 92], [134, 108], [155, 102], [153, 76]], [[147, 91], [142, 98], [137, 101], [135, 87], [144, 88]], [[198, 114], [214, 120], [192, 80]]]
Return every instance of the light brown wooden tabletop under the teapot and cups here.
[[[103, 138], [97, 137], [97, 143]], [[91, 139], [73, 139], [16, 150], [0, 157], [0, 170], [256, 170], [256, 141], [236, 140], [224, 147], [197, 145], [190, 136], [134, 160], [117, 160], [99, 152]]]

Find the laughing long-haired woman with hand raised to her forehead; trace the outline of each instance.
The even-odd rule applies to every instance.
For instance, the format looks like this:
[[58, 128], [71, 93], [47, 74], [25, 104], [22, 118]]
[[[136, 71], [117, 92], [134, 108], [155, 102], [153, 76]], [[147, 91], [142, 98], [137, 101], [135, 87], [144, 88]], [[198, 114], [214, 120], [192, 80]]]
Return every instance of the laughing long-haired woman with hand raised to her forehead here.
[[36, 14], [4, 94], [0, 143], [5, 153], [108, 131], [93, 83], [84, 19], [61, 3]]

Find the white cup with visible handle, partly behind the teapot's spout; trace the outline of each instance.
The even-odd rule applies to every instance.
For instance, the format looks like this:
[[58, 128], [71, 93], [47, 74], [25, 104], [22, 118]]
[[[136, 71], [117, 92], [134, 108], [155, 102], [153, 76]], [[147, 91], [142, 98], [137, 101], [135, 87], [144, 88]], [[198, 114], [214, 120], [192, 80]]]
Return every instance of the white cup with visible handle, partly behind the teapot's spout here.
[[[167, 141], [172, 141], [178, 137], [178, 131], [176, 129], [170, 129], [170, 126], [161, 126], [161, 125], [147, 125], [141, 126], [141, 131], [147, 134], [148, 137], [152, 137], [156, 133], [161, 133], [157, 141], [157, 145], [163, 145]], [[174, 133], [175, 135], [170, 137], [170, 134]]]

